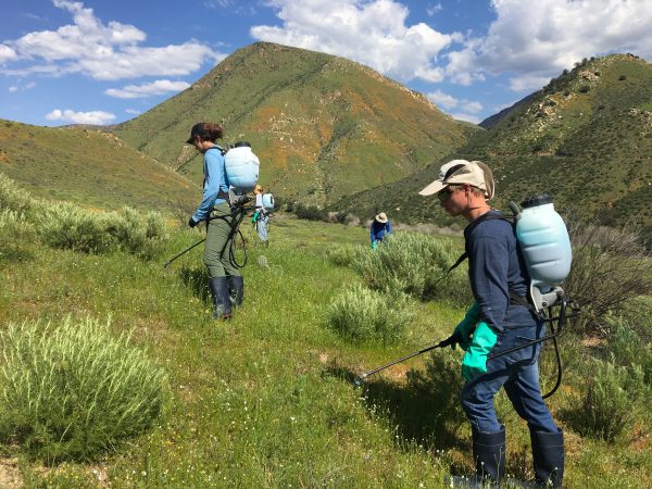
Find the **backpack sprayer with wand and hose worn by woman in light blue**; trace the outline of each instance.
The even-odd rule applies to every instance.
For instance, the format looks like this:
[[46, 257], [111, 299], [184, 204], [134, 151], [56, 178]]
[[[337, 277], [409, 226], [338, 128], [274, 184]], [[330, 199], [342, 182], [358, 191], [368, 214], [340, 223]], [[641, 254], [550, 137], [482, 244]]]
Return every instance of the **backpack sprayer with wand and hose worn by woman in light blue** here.
[[[241, 268], [247, 263], [247, 250], [244, 249], [243, 263], [237, 263], [235, 260], [235, 242], [233, 238], [236, 236], [236, 234], [240, 234], [242, 243], [244, 243], [244, 239], [240, 233], [239, 226], [247, 215], [247, 211], [252, 210], [251, 208], [246, 208], [246, 204], [252, 200], [250, 196], [247, 196], [247, 192], [253, 190], [255, 184], [258, 183], [260, 161], [255, 153], [251, 150], [251, 145], [247, 141], [238, 141], [233, 148], [227, 147], [226, 150], [218, 146], [216, 149], [218, 149], [222, 152], [222, 155], [224, 155], [224, 170], [226, 173], [226, 180], [229, 184], [228, 192], [220, 191], [217, 197], [225, 199], [229, 203], [230, 215], [209, 217], [206, 218], [206, 224], [216, 218], [228, 217], [231, 220], [231, 229], [227, 239], [227, 242], [230, 242], [229, 260], [235, 266]], [[269, 209], [273, 209], [274, 197], [272, 193], [266, 193], [265, 196], [267, 197], [267, 203], [271, 206]], [[264, 201], [265, 199], [263, 198], [263, 202]], [[176, 256], [170, 259], [163, 264], [163, 267], [167, 268], [176, 259], [183, 256], [205, 240], [206, 239], [204, 238], [201, 241], [196, 242]], [[224, 251], [225, 250], [223, 249], [221, 253], [224, 253]]]

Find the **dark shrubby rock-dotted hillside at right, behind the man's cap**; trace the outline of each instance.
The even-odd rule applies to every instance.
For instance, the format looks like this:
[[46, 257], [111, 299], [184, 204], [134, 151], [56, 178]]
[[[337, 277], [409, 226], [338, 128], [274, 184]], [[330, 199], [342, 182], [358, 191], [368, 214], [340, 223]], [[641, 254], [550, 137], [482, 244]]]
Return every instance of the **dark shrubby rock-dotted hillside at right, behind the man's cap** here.
[[652, 65], [630, 54], [584, 60], [528, 99], [460, 151], [336, 206], [443, 224], [438, 204], [416, 191], [442, 161], [465, 158], [494, 171], [498, 206], [548, 191], [557, 206], [605, 224], [651, 225]]

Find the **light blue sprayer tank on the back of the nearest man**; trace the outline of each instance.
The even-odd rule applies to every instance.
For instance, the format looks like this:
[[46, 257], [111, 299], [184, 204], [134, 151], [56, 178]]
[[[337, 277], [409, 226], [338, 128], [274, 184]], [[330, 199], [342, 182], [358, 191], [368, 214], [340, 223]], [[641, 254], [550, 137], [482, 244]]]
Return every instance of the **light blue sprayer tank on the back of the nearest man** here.
[[530, 296], [538, 310], [556, 302], [560, 285], [570, 272], [573, 251], [564, 220], [548, 193], [513, 202], [516, 239], [530, 276]]

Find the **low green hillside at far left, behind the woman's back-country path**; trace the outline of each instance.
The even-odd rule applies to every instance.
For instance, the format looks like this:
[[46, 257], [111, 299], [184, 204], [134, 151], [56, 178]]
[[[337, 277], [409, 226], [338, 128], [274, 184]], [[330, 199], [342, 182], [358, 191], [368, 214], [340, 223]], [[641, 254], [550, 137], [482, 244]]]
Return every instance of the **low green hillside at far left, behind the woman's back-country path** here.
[[173, 209], [189, 193], [200, 191], [188, 179], [101, 130], [2, 120], [0, 173], [36, 197], [99, 209]]

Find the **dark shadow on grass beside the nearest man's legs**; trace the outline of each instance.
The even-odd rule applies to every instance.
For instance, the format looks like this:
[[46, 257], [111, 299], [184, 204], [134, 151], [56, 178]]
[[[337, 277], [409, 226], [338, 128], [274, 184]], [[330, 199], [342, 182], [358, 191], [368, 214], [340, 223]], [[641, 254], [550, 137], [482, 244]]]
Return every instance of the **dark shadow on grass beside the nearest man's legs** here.
[[[435, 354], [425, 372], [409, 371], [406, 383], [375, 377], [362, 383], [360, 391], [367, 409], [385, 413], [405, 444], [416, 442], [430, 451], [469, 451], [469, 440], [459, 434], [466, 417], [460, 403], [462, 381], [457, 369], [456, 361]], [[341, 378], [355, 388], [358, 375], [347, 367], [330, 365], [326, 375]]]

